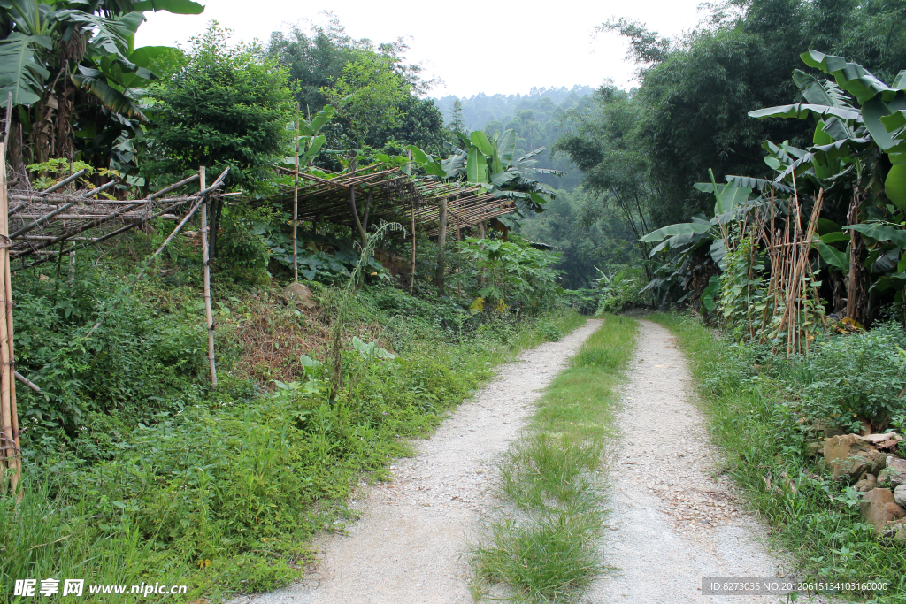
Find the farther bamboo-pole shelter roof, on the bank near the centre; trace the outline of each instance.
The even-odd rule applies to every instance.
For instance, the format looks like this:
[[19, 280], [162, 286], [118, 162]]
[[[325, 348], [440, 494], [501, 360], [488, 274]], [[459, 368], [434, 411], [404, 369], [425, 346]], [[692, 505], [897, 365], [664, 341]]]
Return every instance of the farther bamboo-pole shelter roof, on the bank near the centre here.
[[[477, 185], [443, 183], [427, 177], [410, 177], [400, 168], [381, 168], [382, 164], [374, 164], [329, 178], [300, 172], [299, 220], [353, 226], [350, 208], [353, 188], [357, 206], [368, 205], [371, 224], [386, 220], [408, 225], [414, 214], [417, 225], [429, 235], [438, 230], [439, 202], [445, 198], [448, 224], [454, 228], [477, 225], [517, 210], [511, 200], [494, 197]], [[293, 170], [284, 171], [294, 174]], [[292, 211], [292, 187], [284, 188], [277, 199], [287, 211]]]

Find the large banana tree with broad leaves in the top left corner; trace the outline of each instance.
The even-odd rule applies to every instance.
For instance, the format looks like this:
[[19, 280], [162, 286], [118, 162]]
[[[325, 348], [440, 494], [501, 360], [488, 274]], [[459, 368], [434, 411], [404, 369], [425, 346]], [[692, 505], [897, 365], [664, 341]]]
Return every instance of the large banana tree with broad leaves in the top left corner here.
[[149, 63], [165, 52], [134, 48], [149, 10], [199, 14], [204, 7], [190, 0], [0, 0], [0, 106], [12, 95], [14, 128], [37, 162], [69, 157], [73, 142], [88, 156], [107, 149], [102, 161], [109, 161], [111, 149], [128, 148], [121, 143], [140, 134], [141, 89], [156, 77]]

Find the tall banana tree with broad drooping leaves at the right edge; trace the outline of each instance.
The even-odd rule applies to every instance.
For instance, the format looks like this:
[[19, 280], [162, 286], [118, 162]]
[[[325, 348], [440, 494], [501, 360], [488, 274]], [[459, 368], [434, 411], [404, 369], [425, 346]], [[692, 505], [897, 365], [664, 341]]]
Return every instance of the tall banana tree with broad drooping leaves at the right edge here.
[[776, 184], [824, 188], [834, 219], [819, 223], [818, 250], [846, 280], [847, 316], [864, 322], [877, 294], [894, 289], [906, 302], [906, 71], [888, 86], [843, 57], [809, 51], [802, 59], [834, 80], [796, 70], [805, 103], [749, 115], [815, 120], [812, 146], [766, 143], [766, 163]]

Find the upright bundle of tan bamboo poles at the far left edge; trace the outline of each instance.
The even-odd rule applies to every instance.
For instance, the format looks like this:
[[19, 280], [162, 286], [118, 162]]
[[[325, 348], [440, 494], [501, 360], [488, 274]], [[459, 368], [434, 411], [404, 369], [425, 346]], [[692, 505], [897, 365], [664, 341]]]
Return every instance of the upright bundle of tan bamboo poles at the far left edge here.
[[[10, 101], [10, 105], [12, 103]], [[6, 110], [6, 124], [10, 119], [10, 107]], [[18, 498], [19, 480], [22, 476], [22, 459], [19, 455], [19, 421], [15, 404], [15, 380], [13, 379], [13, 300], [11, 273], [9, 270], [9, 206], [6, 197], [6, 145], [0, 142], [0, 472], [9, 472], [9, 485]], [[6, 492], [6, 482], [0, 492]]]

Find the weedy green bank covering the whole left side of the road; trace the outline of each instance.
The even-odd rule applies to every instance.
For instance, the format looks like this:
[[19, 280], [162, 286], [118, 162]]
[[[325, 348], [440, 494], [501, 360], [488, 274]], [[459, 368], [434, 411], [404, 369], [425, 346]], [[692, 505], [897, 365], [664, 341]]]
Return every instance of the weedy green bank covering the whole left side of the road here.
[[0, 499], [4, 590], [37, 576], [166, 580], [187, 584], [188, 599], [284, 585], [300, 576], [314, 532], [352, 520], [355, 484], [380, 480], [496, 364], [581, 321], [556, 305], [487, 316], [367, 285], [347, 312], [352, 340], [332, 393], [340, 292], [308, 282], [316, 306], [300, 311], [275, 284], [222, 282], [226, 343], [212, 391], [188, 284], [198, 272], [168, 259], [86, 340], [132, 265], [123, 255], [91, 260], [80, 258], [72, 283], [55, 267], [16, 277], [23, 331], [43, 325], [45, 334], [23, 341], [21, 367], [45, 388], [21, 403], [24, 500]]

